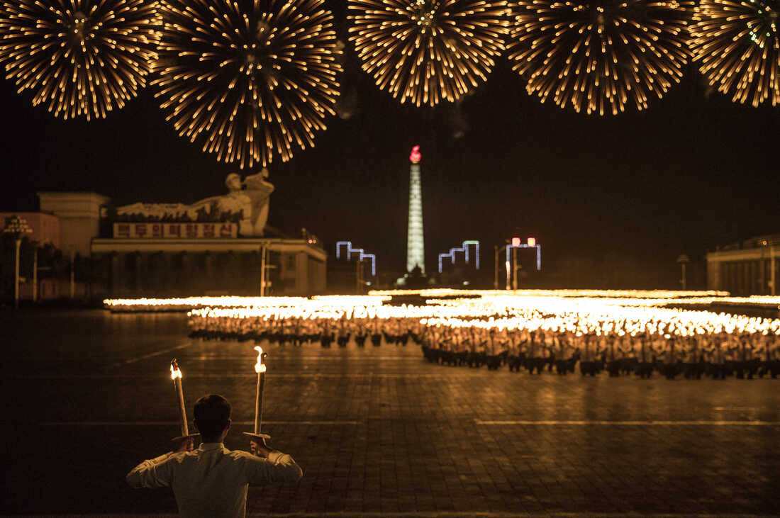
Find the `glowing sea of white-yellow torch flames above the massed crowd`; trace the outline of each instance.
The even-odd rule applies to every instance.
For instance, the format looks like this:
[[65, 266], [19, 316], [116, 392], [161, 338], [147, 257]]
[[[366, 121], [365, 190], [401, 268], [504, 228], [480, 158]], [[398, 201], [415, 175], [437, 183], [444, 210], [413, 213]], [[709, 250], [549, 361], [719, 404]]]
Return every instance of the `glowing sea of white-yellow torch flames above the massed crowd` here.
[[[421, 303], [388, 305], [394, 297], [418, 296]], [[706, 305], [768, 305], [780, 297], [729, 297], [718, 291], [372, 291], [368, 295], [303, 297], [191, 297], [108, 299], [115, 312], [188, 311], [193, 330], [253, 334], [269, 327], [378, 332], [400, 326], [417, 329], [473, 329], [489, 332], [541, 331], [636, 337], [780, 335], [780, 319], [700, 309]], [[686, 309], [695, 305], [696, 309]], [[353, 329], [359, 332], [360, 329]]]

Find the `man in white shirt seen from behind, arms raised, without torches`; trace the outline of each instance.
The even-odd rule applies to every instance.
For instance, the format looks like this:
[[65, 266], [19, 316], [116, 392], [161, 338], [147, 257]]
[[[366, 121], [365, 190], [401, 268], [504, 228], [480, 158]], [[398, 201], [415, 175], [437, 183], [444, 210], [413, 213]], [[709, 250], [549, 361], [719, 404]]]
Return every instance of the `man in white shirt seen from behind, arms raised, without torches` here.
[[127, 474], [133, 488], [173, 489], [181, 516], [245, 516], [248, 485], [295, 485], [303, 476], [293, 457], [250, 439], [252, 453], [230, 451], [230, 403], [217, 394], [195, 403], [195, 426], [203, 443], [184, 439], [176, 451], [144, 460]]

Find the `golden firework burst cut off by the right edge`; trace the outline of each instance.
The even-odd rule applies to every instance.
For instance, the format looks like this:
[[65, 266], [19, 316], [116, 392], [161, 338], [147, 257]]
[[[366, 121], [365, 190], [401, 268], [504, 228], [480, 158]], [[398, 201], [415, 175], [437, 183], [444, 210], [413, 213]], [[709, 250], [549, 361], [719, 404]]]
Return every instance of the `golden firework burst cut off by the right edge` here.
[[778, 12], [774, 0], [701, 0], [691, 47], [710, 86], [735, 102], [780, 104]]

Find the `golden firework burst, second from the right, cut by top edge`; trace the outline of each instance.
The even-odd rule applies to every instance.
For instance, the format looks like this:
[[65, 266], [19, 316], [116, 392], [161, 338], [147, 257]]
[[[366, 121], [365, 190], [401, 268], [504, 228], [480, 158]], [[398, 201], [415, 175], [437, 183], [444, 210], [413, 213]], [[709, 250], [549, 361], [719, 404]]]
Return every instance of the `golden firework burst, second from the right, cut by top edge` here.
[[644, 110], [683, 76], [692, 9], [676, 0], [520, 0], [509, 58], [543, 103], [588, 115], [617, 115], [632, 101]]

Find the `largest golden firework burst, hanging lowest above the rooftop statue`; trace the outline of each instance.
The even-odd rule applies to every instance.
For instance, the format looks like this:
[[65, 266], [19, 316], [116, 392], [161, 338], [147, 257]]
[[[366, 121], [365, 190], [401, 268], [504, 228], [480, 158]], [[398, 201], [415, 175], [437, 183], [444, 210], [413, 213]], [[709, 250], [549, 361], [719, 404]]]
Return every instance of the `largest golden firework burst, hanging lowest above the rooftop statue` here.
[[335, 115], [341, 65], [323, 0], [165, 0], [158, 97], [180, 136], [240, 167], [287, 161]]

